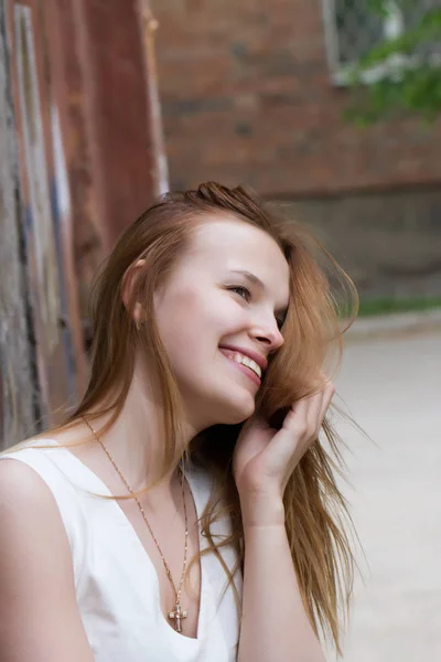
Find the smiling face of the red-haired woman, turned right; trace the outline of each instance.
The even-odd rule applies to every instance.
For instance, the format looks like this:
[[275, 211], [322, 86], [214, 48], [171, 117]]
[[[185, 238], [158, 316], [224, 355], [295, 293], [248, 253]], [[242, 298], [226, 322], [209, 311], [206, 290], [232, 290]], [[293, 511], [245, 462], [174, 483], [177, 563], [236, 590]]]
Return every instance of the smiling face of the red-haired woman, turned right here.
[[189, 423], [198, 431], [255, 409], [283, 338], [289, 267], [276, 242], [229, 216], [207, 217], [155, 296], [161, 339]]

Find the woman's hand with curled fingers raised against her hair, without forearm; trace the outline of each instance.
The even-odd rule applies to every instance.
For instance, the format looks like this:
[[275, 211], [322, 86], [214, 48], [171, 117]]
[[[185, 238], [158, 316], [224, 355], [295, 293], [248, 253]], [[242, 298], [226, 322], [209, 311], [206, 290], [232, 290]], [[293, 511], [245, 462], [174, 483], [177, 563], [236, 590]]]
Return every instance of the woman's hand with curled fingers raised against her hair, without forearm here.
[[240, 435], [233, 459], [244, 525], [284, 522], [288, 480], [316, 440], [335, 387], [326, 380], [314, 395], [294, 403], [280, 430], [252, 417]]

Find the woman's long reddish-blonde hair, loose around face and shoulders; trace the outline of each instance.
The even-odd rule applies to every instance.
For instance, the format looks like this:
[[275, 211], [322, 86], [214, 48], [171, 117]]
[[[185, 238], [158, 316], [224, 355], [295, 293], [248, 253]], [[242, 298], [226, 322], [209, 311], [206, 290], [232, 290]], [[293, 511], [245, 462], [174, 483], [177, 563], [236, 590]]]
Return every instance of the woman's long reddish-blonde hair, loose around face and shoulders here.
[[[141, 214], [123, 233], [96, 280], [90, 381], [66, 424], [110, 413], [106, 428], [112, 425], [127, 397], [141, 343], [163, 405], [164, 473], [183, 455], [182, 404], [155, 323], [153, 295], [187, 248], [195, 225], [204, 223], [207, 214], [233, 216], [267, 232], [290, 267], [290, 305], [282, 327], [284, 343], [270, 362], [256, 403], [256, 410], [273, 425], [280, 424], [293, 402], [313, 392], [326, 359], [340, 356], [342, 320], [354, 317], [357, 306], [348, 276], [305, 228], [283, 218], [276, 207], [243, 186], [228, 189], [204, 183], [197, 190], [169, 193]], [[140, 259], [144, 261], [127, 306], [122, 300], [125, 279]], [[133, 321], [136, 301], [142, 301], [146, 312], [142, 333]], [[223, 563], [219, 547], [233, 544], [239, 555], [238, 566], [244, 560], [244, 532], [232, 458], [240, 429], [240, 425], [214, 426], [193, 439], [184, 451], [185, 457], [215, 478], [216, 490], [201, 522], [211, 551]], [[341, 439], [327, 419], [323, 435], [326, 440], [318, 439], [293, 471], [283, 500], [292, 559], [311, 624], [316, 633], [330, 633], [340, 652], [340, 606], [346, 613], [354, 557], [347, 533], [351, 519], [335, 481], [335, 472], [342, 469]], [[216, 438], [222, 438], [222, 444], [215, 442]], [[233, 533], [215, 543], [211, 525], [225, 512], [232, 519]], [[223, 565], [234, 586], [235, 572], [229, 573]]]

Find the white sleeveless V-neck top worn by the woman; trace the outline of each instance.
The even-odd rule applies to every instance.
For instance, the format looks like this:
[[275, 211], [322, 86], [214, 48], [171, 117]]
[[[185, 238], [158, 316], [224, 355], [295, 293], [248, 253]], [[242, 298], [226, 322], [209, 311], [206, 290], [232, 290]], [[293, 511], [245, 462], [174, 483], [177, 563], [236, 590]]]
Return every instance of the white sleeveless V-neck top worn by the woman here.
[[[51, 445], [53, 449], [32, 448]], [[197, 638], [178, 633], [160, 607], [155, 568], [105, 483], [78, 458], [53, 439], [39, 439], [1, 456], [34, 469], [58, 505], [72, 549], [76, 597], [96, 662], [234, 662], [239, 617], [234, 591], [223, 590], [226, 574], [214, 554], [201, 559], [201, 606]], [[211, 493], [211, 477], [191, 467], [185, 476], [200, 517]], [[229, 521], [213, 526], [227, 535]], [[215, 537], [216, 541], [216, 537]], [[200, 547], [206, 540], [201, 536]], [[219, 549], [230, 570], [232, 547]], [[241, 577], [235, 577], [241, 596]]]

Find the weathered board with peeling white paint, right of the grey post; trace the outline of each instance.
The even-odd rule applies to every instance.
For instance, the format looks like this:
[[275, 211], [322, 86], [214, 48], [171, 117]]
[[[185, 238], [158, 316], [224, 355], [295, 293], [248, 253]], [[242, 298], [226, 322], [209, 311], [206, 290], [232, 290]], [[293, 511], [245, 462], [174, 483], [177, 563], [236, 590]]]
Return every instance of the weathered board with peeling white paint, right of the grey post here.
[[69, 307], [63, 224], [68, 200], [58, 109], [51, 89], [43, 3], [6, 3], [9, 75], [19, 153], [22, 236], [41, 414], [40, 427], [57, 419], [78, 396], [77, 319]]

